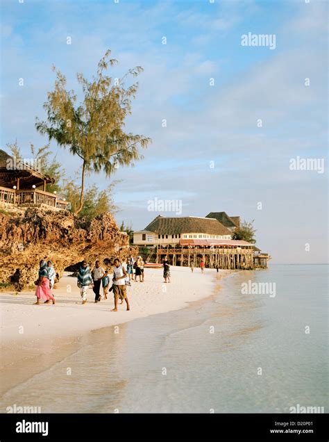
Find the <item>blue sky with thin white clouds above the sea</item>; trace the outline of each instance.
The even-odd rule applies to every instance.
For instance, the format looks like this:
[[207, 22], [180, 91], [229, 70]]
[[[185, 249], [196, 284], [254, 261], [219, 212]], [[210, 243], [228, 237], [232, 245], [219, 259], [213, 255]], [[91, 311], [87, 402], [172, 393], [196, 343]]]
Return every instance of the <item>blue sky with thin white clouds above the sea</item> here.
[[[144, 68], [126, 130], [152, 139], [134, 167], [87, 177], [100, 189], [119, 181], [119, 224], [176, 216], [148, 210], [174, 200], [180, 216], [254, 220], [273, 263], [328, 262], [326, 1], [2, 0], [1, 16], [1, 149], [17, 140], [29, 157], [31, 142], [47, 143], [35, 118], [52, 65], [79, 98], [76, 73], [91, 78], [111, 49], [110, 76]], [[242, 44], [248, 33], [258, 44]], [[80, 159], [51, 150], [76, 177]]]

